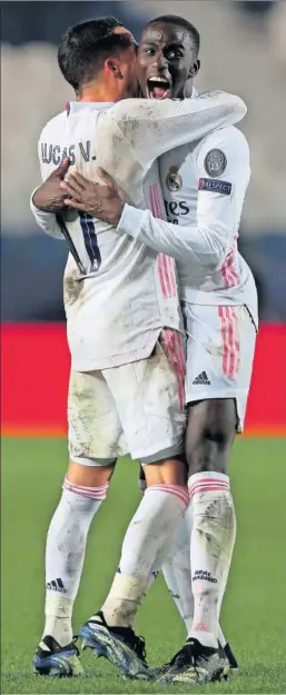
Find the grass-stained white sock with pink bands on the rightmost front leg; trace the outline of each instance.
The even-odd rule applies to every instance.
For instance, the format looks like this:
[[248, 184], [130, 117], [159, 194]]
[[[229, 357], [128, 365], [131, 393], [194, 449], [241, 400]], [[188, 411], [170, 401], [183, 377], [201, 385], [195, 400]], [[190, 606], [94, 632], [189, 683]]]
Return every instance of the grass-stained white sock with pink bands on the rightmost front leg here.
[[229, 478], [215, 471], [189, 478], [193, 504], [190, 542], [194, 619], [189, 637], [206, 646], [218, 643], [219, 612], [236, 536]]

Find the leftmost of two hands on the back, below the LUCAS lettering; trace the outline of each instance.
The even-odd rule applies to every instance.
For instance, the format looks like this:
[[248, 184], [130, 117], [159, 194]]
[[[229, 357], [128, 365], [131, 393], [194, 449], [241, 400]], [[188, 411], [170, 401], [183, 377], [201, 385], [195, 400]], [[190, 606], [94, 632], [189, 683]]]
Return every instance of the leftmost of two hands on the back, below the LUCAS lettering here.
[[45, 212], [59, 212], [65, 208], [63, 191], [60, 188], [60, 182], [63, 180], [69, 168], [69, 159], [63, 161], [50, 173], [48, 179], [37, 188], [33, 193], [32, 202], [39, 210]]

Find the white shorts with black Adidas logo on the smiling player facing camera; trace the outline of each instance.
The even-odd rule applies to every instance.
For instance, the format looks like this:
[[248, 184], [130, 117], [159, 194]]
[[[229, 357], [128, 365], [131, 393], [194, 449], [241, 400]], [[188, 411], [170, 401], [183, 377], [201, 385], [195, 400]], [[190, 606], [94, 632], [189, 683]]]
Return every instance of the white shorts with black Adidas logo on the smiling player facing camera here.
[[183, 304], [187, 330], [186, 404], [235, 398], [237, 431], [244, 429], [256, 328], [245, 306]]

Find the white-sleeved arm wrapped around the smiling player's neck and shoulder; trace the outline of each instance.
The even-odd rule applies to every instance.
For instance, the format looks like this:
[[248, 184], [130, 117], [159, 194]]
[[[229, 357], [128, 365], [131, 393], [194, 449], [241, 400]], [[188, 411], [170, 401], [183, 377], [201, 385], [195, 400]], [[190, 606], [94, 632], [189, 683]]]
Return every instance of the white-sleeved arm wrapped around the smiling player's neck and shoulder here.
[[124, 140], [125, 147], [132, 149], [135, 159], [146, 167], [175, 147], [240, 121], [246, 111], [239, 97], [208, 92], [181, 101], [126, 99], [111, 107], [103, 119], [108, 119], [109, 130], [115, 130], [116, 126], [114, 146], [117, 140]]

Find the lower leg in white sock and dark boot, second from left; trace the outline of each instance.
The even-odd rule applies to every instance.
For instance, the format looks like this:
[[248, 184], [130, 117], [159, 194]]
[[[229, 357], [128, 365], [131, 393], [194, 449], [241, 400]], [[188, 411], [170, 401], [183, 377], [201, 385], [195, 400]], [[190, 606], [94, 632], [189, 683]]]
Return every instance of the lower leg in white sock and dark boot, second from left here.
[[[186, 475], [185, 464], [174, 459], [174, 465], [180, 483]], [[171, 466], [167, 468], [168, 476], [170, 469]], [[147, 488], [125, 536], [119, 568], [101, 612], [80, 631], [85, 646], [107, 656], [129, 677], [149, 677], [145, 646], [134, 633], [134, 622], [150, 575], [168, 554], [188, 502], [186, 486], [166, 485], [161, 475], [158, 485]]]

